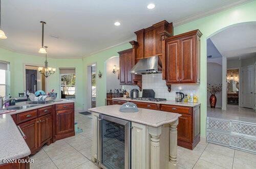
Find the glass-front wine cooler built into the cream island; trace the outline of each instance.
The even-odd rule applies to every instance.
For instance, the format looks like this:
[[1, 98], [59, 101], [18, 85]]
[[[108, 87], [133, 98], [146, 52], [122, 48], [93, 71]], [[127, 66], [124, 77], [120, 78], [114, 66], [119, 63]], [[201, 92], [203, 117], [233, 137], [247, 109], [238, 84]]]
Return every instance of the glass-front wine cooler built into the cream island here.
[[99, 115], [98, 164], [101, 168], [131, 168], [131, 122]]

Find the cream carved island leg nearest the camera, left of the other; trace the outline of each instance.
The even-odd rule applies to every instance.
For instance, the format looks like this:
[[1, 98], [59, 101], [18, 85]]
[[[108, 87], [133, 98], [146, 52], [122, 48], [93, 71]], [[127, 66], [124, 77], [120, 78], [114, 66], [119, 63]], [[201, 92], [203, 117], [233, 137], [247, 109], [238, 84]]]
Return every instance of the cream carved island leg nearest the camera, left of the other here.
[[159, 169], [160, 168], [161, 127], [158, 127], [158, 128], [150, 127], [149, 131], [151, 136], [150, 168]]

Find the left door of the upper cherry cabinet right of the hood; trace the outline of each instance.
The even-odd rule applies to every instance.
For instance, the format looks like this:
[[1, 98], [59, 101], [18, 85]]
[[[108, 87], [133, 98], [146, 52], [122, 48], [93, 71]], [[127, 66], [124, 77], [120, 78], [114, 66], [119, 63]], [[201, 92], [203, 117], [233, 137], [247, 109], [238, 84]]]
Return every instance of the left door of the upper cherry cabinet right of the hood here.
[[166, 42], [166, 83], [179, 82], [180, 40]]

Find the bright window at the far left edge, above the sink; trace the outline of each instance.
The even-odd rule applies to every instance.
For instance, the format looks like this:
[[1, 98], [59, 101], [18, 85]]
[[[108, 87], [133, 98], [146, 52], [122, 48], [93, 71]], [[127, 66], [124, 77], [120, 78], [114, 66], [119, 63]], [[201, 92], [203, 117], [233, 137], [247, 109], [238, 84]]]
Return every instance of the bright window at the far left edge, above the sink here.
[[9, 62], [0, 61], [0, 96], [6, 96], [8, 91]]

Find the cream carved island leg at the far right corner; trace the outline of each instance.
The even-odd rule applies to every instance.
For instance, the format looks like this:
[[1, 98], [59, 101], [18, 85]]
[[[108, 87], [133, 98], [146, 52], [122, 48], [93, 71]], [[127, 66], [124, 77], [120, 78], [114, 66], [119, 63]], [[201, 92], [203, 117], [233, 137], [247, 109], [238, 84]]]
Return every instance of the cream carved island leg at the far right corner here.
[[170, 124], [170, 151], [169, 151], [169, 169], [178, 168], [177, 162], [177, 125], [179, 121]]

